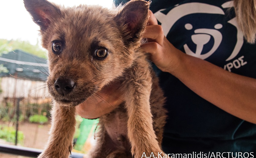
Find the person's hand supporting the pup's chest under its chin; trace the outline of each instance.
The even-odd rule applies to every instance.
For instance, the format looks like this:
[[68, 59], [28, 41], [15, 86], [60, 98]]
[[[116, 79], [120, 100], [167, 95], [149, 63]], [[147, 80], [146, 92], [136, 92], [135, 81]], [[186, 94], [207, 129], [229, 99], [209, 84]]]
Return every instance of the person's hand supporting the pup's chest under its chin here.
[[77, 114], [87, 119], [94, 119], [111, 112], [124, 100], [118, 90], [119, 87], [120, 83], [118, 82], [103, 87], [102, 90], [76, 106]]

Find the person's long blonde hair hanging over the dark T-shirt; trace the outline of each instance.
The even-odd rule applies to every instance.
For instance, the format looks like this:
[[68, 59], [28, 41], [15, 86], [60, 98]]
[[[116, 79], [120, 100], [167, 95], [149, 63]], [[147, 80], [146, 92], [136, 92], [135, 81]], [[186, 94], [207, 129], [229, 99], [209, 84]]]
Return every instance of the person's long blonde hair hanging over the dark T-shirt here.
[[249, 43], [256, 38], [256, 0], [234, 0], [237, 22]]

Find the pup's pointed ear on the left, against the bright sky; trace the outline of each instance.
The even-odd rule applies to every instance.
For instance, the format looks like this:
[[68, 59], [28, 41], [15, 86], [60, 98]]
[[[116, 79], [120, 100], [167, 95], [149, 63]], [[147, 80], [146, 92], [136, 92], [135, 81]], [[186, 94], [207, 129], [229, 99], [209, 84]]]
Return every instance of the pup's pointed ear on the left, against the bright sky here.
[[24, 5], [42, 31], [61, 16], [58, 6], [46, 0], [24, 0]]

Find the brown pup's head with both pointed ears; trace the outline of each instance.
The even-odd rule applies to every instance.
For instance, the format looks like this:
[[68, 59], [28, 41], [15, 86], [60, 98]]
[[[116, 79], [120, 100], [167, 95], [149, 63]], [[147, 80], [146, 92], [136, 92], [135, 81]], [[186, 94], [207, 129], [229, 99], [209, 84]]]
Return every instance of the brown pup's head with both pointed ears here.
[[149, 17], [149, 3], [143, 0], [117, 11], [64, 8], [46, 0], [24, 4], [48, 50], [49, 92], [62, 105], [78, 105], [132, 65]]

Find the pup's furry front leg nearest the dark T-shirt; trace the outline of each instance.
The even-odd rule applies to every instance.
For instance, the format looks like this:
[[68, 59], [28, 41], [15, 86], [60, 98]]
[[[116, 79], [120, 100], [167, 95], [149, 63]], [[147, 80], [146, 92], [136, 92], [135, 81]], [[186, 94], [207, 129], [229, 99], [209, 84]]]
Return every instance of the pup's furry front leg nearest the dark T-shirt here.
[[132, 145], [132, 154], [135, 158], [150, 157], [150, 155], [158, 157], [158, 154], [163, 156], [152, 125], [149, 98], [150, 82], [141, 82], [141, 80], [133, 80], [132, 82], [129, 84], [129, 87], [132, 88], [129, 88], [129, 94], [127, 94], [129, 98], [127, 97], [126, 99], [129, 117], [127, 124], [128, 137]]

